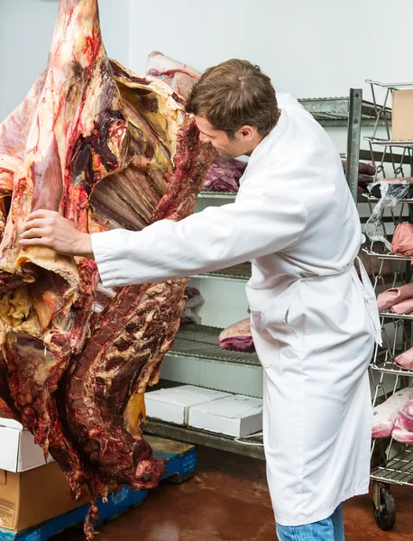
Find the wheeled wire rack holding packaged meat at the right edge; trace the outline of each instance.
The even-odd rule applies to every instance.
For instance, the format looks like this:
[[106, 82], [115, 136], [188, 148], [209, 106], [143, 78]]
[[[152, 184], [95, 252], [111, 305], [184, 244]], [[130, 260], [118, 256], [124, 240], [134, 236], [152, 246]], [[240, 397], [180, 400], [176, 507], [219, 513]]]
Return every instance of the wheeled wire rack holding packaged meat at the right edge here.
[[[408, 85], [382, 85], [375, 81], [367, 81], [372, 87], [373, 104], [376, 114], [376, 122], [373, 124], [372, 136], [365, 139], [369, 142], [372, 162], [376, 168], [376, 179], [385, 177], [385, 168], [392, 169], [394, 177], [405, 176], [406, 168], [412, 174], [413, 142], [392, 141], [390, 133], [390, 119], [387, 104], [393, 90], [413, 87]], [[376, 95], [378, 91], [384, 93], [383, 105], [378, 105]], [[384, 125], [384, 137], [378, 136], [379, 124]], [[378, 150], [377, 150], [378, 149]], [[395, 150], [400, 153], [396, 154]], [[378, 203], [374, 197], [366, 197], [372, 211]], [[385, 208], [381, 210], [382, 236], [391, 241], [394, 227], [401, 222], [412, 222], [413, 200], [399, 200], [396, 206], [388, 208], [387, 220], [383, 218]], [[390, 214], [390, 216], [389, 216]], [[379, 261], [389, 261], [393, 267], [393, 280], [391, 286], [408, 283], [412, 280], [411, 258], [400, 257], [388, 252], [383, 243], [370, 242], [365, 247], [365, 252]], [[381, 271], [374, 279], [374, 288], [382, 285]], [[387, 399], [391, 392], [400, 388], [411, 386], [413, 383], [413, 371], [407, 371], [400, 367], [395, 359], [399, 353], [409, 349], [413, 345], [413, 316], [398, 315], [386, 311], [381, 313], [381, 328], [383, 346], [375, 347], [372, 364], [371, 378], [374, 386], [372, 397], [373, 408]], [[388, 393], [385, 378], [393, 378], [392, 390]], [[411, 446], [402, 445], [390, 438], [390, 441], [373, 439], [372, 441], [372, 472], [373, 481], [373, 504], [374, 516], [379, 527], [383, 530], [391, 529], [396, 520], [396, 504], [390, 491], [391, 484], [403, 484], [413, 486], [413, 449]]]

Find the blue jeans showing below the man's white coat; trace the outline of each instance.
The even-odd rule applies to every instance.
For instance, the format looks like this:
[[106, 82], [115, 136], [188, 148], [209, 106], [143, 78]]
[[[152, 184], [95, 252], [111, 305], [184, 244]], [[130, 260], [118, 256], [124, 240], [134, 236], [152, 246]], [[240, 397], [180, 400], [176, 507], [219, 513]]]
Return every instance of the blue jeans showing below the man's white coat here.
[[280, 541], [345, 541], [343, 505], [325, 520], [305, 526], [280, 526], [277, 524]]

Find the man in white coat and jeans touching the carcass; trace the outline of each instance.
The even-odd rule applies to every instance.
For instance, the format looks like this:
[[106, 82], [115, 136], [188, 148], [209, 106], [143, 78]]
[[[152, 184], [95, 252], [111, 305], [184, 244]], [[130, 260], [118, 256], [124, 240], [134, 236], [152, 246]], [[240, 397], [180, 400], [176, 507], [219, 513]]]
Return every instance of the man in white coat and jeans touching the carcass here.
[[252, 260], [247, 295], [264, 369], [264, 445], [280, 541], [344, 541], [342, 501], [368, 491], [367, 375], [380, 325], [333, 143], [258, 67], [207, 69], [188, 98], [203, 142], [250, 156], [235, 202], [142, 232], [79, 233], [29, 216], [21, 244], [95, 258], [104, 285], [156, 282]]

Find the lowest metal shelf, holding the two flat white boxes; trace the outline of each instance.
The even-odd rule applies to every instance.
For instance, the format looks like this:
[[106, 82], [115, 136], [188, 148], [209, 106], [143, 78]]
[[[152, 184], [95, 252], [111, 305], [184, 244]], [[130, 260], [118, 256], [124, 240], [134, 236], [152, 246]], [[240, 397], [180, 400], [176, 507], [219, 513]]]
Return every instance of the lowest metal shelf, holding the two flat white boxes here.
[[[146, 424], [143, 425], [143, 434], [151, 436], [161, 436], [179, 440], [194, 445], [205, 445], [206, 447], [214, 447], [221, 451], [229, 453], [243, 454], [252, 458], [265, 459], [264, 450], [262, 447], [262, 436], [256, 436], [254, 439], [235, 440], [231, 436], [223, 434], [215, 434], [206, 430], [197, 430], [190, 426], [173, 425], [163, 421], [147, 418]], [[245, 443], [242, 443], [245, 441]], [[251, 443], [259, 445], [251, 445]]]

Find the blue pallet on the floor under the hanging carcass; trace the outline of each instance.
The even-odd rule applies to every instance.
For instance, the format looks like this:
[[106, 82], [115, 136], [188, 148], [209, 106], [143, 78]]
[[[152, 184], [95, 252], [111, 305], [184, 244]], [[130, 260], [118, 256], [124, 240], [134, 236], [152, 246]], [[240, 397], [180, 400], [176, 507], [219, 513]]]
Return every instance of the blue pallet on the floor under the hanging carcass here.
[[[167, 472], [163, 480], [172, 482], [184, 482], [193, 476], [197, 467], [197, 452], [193, 445], [180, 444], [155, 437], [145, 437], [151, 444], [153, 453], [164, 460]], [[104, 522], [115, 520], [126, 513], [129, 509], [139, 507], [148, 496], [148, 491], [133, 492], [129, 487], [120, 491], [112, 492], [107, 503], [102, 499], [97, 501], [100, 518], [96, 527]], [[88, 505], [73, 509], [60, 517], [50, 518], [38, 526], [30, 527], [21, 531], [12, 531], [0, 528], [0, 541], [47, 541], [50, 537], [59, 534], [63, 530], [79, 525], [85, 521]]]

